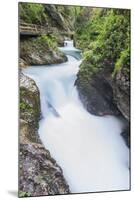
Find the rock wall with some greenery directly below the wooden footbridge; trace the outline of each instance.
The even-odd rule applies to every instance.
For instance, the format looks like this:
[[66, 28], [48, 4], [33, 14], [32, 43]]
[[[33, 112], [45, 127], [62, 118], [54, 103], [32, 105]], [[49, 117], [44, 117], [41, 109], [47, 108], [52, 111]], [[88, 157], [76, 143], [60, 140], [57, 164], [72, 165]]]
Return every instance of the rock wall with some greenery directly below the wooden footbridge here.
[[20, 58], [26, 65], [46, 65], [67, 61], [67, 57], [50, 43], [47, 36], [20, 40]]

